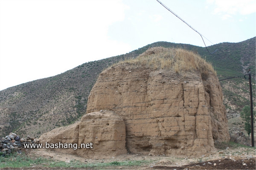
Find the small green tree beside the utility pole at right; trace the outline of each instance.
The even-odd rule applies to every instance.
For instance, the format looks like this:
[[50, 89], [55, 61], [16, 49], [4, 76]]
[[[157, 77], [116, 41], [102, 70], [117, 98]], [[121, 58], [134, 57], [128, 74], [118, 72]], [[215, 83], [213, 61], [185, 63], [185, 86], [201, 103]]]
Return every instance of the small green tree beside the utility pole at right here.
[[[255, 111], [253, 111], [253, 115], [255, 115]], [[244, 130], [246, 130], [248, 134], [248, 139], [251, 133], [251, 113], [250, 113], [250, 106], [244, 106], [243, 110], [240, 112], [241, 118], [244, 120]], [[255, 118], [255, 116], [254, 116]]]

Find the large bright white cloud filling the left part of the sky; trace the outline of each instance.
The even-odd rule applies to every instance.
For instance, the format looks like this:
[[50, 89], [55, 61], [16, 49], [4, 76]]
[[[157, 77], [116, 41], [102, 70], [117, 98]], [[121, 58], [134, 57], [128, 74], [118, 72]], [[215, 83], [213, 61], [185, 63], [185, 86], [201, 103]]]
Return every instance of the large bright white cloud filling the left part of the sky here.
[[0, 0], [0, 90], [130, 51], [108, 37], [125, 9], [122, 0]]

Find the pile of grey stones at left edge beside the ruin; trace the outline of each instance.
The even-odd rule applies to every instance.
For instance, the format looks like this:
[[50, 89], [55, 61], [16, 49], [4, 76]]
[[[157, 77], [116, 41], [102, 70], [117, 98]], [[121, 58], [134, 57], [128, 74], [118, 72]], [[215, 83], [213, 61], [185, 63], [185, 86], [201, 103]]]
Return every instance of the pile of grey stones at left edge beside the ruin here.
[[[15, 133], [10, 133], [5, 138], [0, 139], [0, 156], [7, 155], [13, 152], [20, 153], [20, 150], [24, 148], [24, 144], [34, 144], [38, 143], [39, 139], [30, 137], [20, 139], [20, 136]], [[31, 146], [26, 148], [32, 148]], [[35, 148], [35, 147], [34, 147]]]

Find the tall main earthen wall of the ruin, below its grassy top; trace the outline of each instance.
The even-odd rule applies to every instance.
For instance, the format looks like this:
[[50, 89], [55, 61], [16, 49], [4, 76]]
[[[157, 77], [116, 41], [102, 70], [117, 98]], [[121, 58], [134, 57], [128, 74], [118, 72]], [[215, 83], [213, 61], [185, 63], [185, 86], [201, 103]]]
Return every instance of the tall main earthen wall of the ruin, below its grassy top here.
[[229, 140], [222, 97], [213, 73], [203, 79], [199, 71], [122, 63], [100, 74], [87, 113], [106, 109], [122, 116], [132, 153], [196, 156], [214, 152], [214, 140]]

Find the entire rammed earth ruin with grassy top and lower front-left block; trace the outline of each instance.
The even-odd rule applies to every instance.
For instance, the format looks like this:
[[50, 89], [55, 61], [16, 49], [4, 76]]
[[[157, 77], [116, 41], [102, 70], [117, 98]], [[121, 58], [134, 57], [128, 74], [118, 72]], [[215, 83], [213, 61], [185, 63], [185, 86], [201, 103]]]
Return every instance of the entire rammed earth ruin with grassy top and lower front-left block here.
[[[87, 158], [125, 153], [201, 156], [230, 139], [223, 94], [209, 63], [190, 51], [150, 48], [103, 71], [80, 122], [40, 142], [93, 143]], [[61, 151], [61, 150], [59, 150]]]

